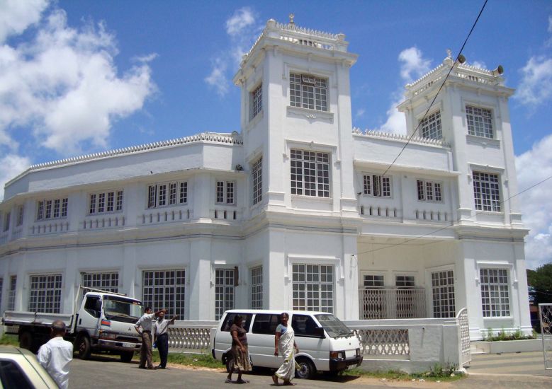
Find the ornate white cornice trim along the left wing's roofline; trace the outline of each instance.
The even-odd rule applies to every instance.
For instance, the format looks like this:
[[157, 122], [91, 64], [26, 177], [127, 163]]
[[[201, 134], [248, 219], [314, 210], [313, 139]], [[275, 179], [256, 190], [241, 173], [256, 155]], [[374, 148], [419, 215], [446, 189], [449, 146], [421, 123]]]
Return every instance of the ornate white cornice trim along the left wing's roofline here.
[[26, 175], [26, 173], [33, 170], [71, 165], [73, 163], [81, 163], [86, 161], [95, 161], [101, 158], [123, 156], [123, 155], [128, 155], [133, 153], [140, 153], [142, 151], [163, 149], [171, 146], [179, 146], [181, 144], [191, 144], [191, 143], [198, 143], [198, 142], [235, 144], [238, 146], [243, 145], [242, 136], [237, 132], [232, 132], [232, 134], [221, 134], [218, 132], [201, 132], [201, 134], [191, 135], [190, 137], [183, 137], [183, 138], [177, 138], [177, 139], [170, 139], [168, 141], [159, 141], [159, 142], [153, 142], [148, 144], [141, 144], [139, 146], [130, 146], [130, 147], [125, 147], [123, 149], [102, 151], [101, 153], [91, 153], [91, 154], [86, 154], [84, 156], [64, 158], [58, 161], [37, 163], [35, 165], [31, 165], [27, 170], [24, 170], [23, 173], [17, 175], [16, 178], [13, 178], [12, 180], [9, 180], [8, 182], [6, 182], [6, 185], [10, 185], [11, 182], [18, 180], [18, 178], [21, 178], [21, 176]]

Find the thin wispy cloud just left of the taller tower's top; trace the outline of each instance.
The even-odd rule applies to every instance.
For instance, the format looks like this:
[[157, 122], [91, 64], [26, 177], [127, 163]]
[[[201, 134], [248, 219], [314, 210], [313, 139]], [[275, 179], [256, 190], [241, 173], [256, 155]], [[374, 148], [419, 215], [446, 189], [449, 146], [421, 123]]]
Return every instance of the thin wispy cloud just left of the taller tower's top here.
[[262, 26], [257, 23], [257, 16], [249, 7], [236, 10], [227, 19], [225, 26], [230, 39], [229, 48], [215, 55], [211, 61], [210, 74], [204, 79], [220, 96], [229, 91], [229, 79], [233, 75], [230, 72], [237, 69], [243, 55], [262, 30]]

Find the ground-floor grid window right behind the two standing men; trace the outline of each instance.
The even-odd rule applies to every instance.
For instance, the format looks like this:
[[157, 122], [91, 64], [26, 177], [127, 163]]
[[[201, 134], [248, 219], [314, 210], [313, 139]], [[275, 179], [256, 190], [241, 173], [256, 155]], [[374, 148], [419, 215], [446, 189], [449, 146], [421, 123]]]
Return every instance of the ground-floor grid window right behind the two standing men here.
[[186, 271], [145, 270], [143, 272], [142, 304], [154, 311], [167, 308], [167, 318], [184, 320]]

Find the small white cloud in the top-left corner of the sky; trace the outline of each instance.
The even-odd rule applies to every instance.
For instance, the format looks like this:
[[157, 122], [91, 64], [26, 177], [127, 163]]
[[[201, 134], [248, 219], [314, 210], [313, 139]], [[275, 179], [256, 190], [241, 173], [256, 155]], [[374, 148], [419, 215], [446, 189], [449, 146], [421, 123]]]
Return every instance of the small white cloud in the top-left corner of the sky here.
[[47, 5], [47, 0], [0, 0], [0, 43], [37, 23]]

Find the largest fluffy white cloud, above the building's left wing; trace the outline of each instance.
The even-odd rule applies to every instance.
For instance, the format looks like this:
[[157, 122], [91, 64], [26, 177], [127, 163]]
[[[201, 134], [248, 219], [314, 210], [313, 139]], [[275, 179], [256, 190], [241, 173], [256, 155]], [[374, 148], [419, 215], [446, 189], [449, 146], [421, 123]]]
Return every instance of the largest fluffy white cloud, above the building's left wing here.
[[53, 8], [36, 25], [30, 41], [0, 46], [0, 152], [16, 152], [11, 132], [29, 130], [62, 156], [83, 144], [106, 147], [113, 121], [140, 110], [155, 91], [147, 64], [154, 57], [118, 75], [115, 37], [103, 23], [72, 28]]

